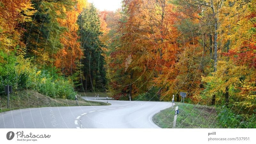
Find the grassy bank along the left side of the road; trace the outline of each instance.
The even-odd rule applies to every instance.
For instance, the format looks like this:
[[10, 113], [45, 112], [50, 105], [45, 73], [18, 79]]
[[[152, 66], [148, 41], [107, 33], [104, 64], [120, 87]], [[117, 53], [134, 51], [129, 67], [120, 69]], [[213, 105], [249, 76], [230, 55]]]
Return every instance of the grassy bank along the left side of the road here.
[[40, 93], [24, 90], [10, 95], [10, 108], [7, 108], [7, 96], [0, 97], [0, 112], [6, 112], [15, 109], [48, 107], [48, 106], [105, 106], [110, 105], [103, 102], [87, 101], [78, 95], [78, 105], [75, 100], [70, 99], [52, 99]]

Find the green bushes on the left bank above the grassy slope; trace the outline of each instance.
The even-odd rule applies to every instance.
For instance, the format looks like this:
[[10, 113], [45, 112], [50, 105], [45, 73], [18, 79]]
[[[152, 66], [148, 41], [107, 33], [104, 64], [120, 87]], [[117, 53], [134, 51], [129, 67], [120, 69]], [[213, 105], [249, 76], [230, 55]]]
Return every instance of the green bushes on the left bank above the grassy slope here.
[[[17, 50], [20, 50], [19, 46]], [[24, 58], [23, 54], [16, 56], [16, 51], [10, 55], [0, 51], [0, 94], [4, 95], [4, 86], [12, 86], [12, 91], [33, 89], [51, 98], [75, 99], [76, 92], [71, 82], [60, 76], [55, 67], [43, 67], [40, 71], [32, 64], [32, 58]]]

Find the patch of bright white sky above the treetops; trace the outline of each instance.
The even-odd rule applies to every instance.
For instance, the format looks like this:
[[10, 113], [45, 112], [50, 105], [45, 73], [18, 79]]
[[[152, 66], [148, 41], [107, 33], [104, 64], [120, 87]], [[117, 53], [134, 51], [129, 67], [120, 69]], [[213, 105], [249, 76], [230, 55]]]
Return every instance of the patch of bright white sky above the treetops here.
[[87, 0], [89, 3], [93, 3], [100, 11], [110, 10], [115, 11], [121, 8], [122, 0]]

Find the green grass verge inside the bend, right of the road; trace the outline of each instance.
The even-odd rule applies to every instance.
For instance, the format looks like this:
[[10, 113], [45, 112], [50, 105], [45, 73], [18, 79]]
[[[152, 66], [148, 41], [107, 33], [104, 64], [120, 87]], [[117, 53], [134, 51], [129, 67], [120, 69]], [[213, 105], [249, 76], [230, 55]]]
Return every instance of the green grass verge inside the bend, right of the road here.
[[172, 128], [175, 107], [179, 106], [176, 128], [221, 128], [216, 109], [211, 106], [201, 106], [180, 103], [162, 110], [153, 116], [153, 121], [162, 128]]

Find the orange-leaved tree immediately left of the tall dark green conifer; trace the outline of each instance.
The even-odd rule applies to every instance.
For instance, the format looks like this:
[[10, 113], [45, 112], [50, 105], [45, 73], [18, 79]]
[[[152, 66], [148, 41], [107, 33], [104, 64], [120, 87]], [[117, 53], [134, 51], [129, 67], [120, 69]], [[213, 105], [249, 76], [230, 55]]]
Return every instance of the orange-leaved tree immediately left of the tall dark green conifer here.
[[86, 8], [86, 1], [74, 1], [76, 4], [70, 10], [67, 10], [65, 6], [66, 17], [64, 19], [58, 18], [60, 26], [65, 27], [66, 31], [61, 33], [60, 43], [63, 45], [55, 55], [55, 66], [61, 70], [65, 76], [71, 76], [76, 72], [77, 64], [79, 64], [82, 49], [80, 47], [79, 37], [77, 35], [78, 15], [82, 12], [83, 8]]

